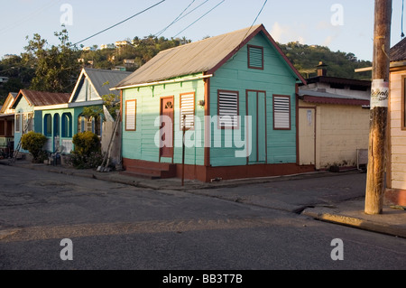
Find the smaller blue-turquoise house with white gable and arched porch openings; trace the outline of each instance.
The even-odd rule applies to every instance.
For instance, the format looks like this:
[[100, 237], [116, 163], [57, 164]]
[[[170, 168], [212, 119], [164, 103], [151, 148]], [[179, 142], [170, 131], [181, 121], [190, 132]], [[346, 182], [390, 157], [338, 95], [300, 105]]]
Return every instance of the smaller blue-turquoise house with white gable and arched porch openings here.
[[42, 107], [41, 131], [49, 138], [46, 150], [52, 152], [60, 148], [62, 153], [70, 153], [74, 149], [73, 135], [85, 131], [91, 131], [101, 137], [104, 115], [85, 116], [83, 109], [93, 107], [102, 111], [102, 97], [115, 94], [118, 98], [119, 93], [109, 89], [130, 74], [125, 71], [82, 69], [76, 86], [65, 103], [60, 106]]

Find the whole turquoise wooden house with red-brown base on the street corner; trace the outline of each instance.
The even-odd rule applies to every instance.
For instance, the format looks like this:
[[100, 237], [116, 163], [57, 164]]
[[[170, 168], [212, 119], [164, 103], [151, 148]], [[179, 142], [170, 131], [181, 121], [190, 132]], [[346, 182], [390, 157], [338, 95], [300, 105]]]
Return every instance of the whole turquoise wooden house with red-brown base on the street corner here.
[[180, 177], [185, 130], [187, 179], [306, 171], [297, 160], [299, 83], [262, 24], [161, 51], [115, 87], [124, 168]]

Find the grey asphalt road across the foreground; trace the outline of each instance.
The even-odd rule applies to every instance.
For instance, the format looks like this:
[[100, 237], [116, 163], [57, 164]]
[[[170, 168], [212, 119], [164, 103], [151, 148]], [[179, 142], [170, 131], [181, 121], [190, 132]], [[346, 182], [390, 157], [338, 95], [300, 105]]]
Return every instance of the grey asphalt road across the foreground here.
[[[2, 270], [406, 268], [403, 238], [213, 197], [220, 190], [145, 190], [11, 166], [0, 166], [0, 181]], [[255, 194], [303, 183], [244, 189]], [[231, 195], [238, 189], [228, 191]], [[308, 198], [306, 204], [313, 201]], [[337, 238], [343, 242], [343, 260], [331, 256]], [[62, 239], [70, 239], [72, 246], [61, 246]], [[72, 260], [62, 260], [62, 250], [71, 252]]]

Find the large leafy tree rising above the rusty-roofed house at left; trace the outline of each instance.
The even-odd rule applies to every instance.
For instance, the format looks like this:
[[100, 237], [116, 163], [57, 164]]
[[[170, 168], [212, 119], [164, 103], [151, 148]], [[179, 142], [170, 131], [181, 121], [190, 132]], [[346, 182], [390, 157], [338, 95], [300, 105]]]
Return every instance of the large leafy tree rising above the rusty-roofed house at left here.
[[26, 52], [22, 54], [23, 60], [35, 70], [30, 86], [33, 90], [70, 92], [78, 77], [80, 52], [69, 42], [66, 29], [55, 33], [55, 36], [60, 40], [58, 46], [48, 48], [48, 42], [36, 33], [24, 47]]

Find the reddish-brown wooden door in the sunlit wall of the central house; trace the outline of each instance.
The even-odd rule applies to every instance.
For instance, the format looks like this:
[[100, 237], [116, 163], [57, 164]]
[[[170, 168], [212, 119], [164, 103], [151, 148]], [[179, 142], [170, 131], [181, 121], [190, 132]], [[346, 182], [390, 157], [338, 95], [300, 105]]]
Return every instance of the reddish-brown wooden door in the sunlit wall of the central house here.
[[161, 117], [160, 156], [173, 158], [173, 97], [161, 98]]

